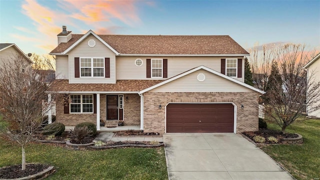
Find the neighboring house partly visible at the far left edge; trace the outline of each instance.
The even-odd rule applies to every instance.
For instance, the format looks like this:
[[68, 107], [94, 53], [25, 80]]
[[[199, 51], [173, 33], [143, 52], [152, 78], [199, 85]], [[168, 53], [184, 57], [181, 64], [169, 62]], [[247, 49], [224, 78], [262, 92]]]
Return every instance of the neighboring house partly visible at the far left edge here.
[[[3, 68], [5, 64], [12, 63], [19, 56], [25, 59], [25, 67], [31, 68], [32, 61], [17, 45], [14, 43], [0, 43], [0, 67]], [[24, 71], [24, 68], [20, 70]]]

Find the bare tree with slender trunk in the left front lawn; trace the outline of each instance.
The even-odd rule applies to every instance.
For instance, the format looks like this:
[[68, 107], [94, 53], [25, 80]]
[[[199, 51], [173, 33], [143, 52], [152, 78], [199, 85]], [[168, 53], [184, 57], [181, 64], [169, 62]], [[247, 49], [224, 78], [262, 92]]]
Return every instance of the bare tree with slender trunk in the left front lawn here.
[[7, 122], [0, 123], [0, 130], [21, 146], [22, 170], [25, 169], [25, 145], [38, 133], [45, 114], [43, 109], [51, 105], [42, 106], [49, 85], [38, 80], [23, 56], [16, 56], [0, 67], [0, 113], [2, 121]]

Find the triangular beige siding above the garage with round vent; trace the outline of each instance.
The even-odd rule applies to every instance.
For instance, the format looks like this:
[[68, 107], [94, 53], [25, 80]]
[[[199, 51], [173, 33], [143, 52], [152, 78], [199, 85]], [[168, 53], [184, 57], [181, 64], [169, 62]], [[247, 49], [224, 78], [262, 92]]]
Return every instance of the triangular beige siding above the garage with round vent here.
[[[197, 75], [203, 73], [204, 81], [198, 81]], [[197, 70], [183, 77], [150, 90], [150, 92], [251, 92], [253, 90], [215, 75], [204, 69]]]

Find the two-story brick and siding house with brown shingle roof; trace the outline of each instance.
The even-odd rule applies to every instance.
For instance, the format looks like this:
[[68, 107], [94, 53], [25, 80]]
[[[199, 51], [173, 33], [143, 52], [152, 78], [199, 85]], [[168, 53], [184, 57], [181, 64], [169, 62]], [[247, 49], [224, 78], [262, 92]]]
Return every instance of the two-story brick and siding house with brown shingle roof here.
[[[72, 34], [62, 26], [56, 121], [100, 119], [144, 132], [236, 132], [258, 129], [258, 96], [245, 84], [249, 55], [228, 35]], [[60, 101], [60, 102], [58, 102]], [[64, 101], [64, 102], [63, 102]]]

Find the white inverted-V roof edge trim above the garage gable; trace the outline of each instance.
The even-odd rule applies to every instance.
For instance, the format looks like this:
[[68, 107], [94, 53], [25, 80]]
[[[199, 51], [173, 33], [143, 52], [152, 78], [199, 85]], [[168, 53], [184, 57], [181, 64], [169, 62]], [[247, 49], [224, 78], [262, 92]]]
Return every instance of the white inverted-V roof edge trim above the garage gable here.
[[251, 86], [251, 85], [248, 85], [248, 84], [246, 84], [246, 83], [244, 83], [244, 82], [241, 82], [241, 81], [236, 80], [236, 79], [234, 79], [234, 78], [232, 78], [232, 77], [229, 77], [229, 76], [224, 75], [224, 74], [222, 74], [222, 73], [220, 73], [220, 72], [217, 72], [217, 71], [215, 71], [215, 70], [213, 70], [213, 69], [210, 69], [210, 68], [208, 68], [208, 67], [206, 67], [206, 66], [204, 66], [204, 65], [200, 65], [200, 66], [198, 66], [198, 67], [192, 68], [192, 69], [187, 70], [187, 71], [185, 71], [185, 72], [182, 72], [182, 73], [180, 73], [180, 74], [178, 74], [178, 75], [175, 75], [175, 76], [173, 76], [173, 77], [171, 77], [171, 78], [169, 78], [169, 79], [166, 79], [166, 80], [164, 80], [164, 81], [162, 81], [162, 82], [160, 82], [160, 83], [158, 83], [158, 84], [155, 84], [155, 85], [153, 85], [153, 86], [150, 86], [150, 87], [148, 87], [148, 88], [145, 88], [145, 89], [143, 89], [143, 90], [140, 90], [139, 93], [147, 92], [147, 91], [149, 91], [149, 90], [151, 90], [151, 89], [154, 89], [154, 88], [156, 88], [156, 87], [158, 87], [158, 86], [161, 86], [161, 85], [163, 85], [163, 84], [166, 84], [166, 83], [168, 83], [168, 82], [171, 82], [171, 81], [173, 81], [173, 80], [175, 80], [175, 79], [177, 79], [177, 78], [180, 78], [180, 77], [182, 77], [182, 76], [185, 76], [185, 75], [187, 75], [187, 74], [190, 74], [190, 73], [192, 73], [192, 72], [194, 72], [194, 71], [197, 71], [197, 70], [199, 70], [199, 69], [204, 69], [204, 70], [206, 70], [206, 71], [209, 71], [209, 72], [211, 72], [211, 73], [213, 73], [213, 74], [215, 74], [215, 75], [218, 75], [218, 76], [223, 77], [223, 78], [225, 78], [225, 79], [227, 79], [227, 80], [230, 80], [230, 81], [232, 81], [232, 82], [235, 82], [235, 83], [237, 83], [237, 84], [240, 84], [240, 85], [242, 85], [242, 86], [244, 86], [244, 87], [247, 87], [247, 88], [249, 88], [249, 89], [251, 89], [251, 90], [254, 90], [254, 91], [256, 91], [256, 92], [259, 92], [259, 93], [262, 93], [262, 94], [265, 93], [263, 90], [257, 89], [257, 88], [255, 88], [255, 87], [253, 87], [253, 86]]

